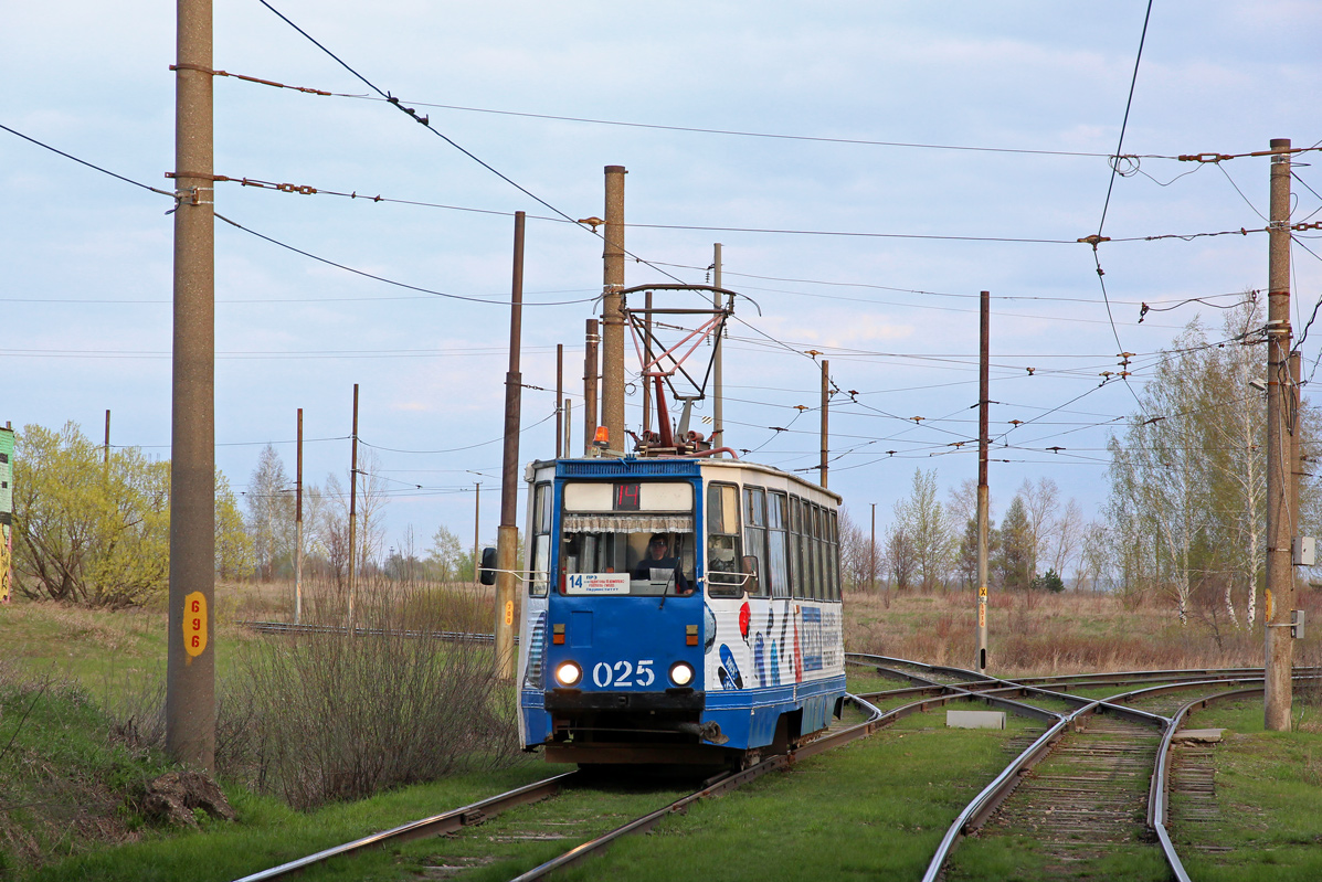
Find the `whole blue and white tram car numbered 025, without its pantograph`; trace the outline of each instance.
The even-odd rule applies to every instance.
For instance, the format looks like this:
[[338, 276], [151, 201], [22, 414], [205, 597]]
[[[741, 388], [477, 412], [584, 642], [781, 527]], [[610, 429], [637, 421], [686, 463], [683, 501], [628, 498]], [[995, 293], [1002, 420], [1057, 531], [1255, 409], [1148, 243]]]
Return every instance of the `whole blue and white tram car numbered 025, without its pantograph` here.
[[543, 461], [526, 477], [526, 750], [738, 764], [839, 714], [839, 496], [685, 457]]

